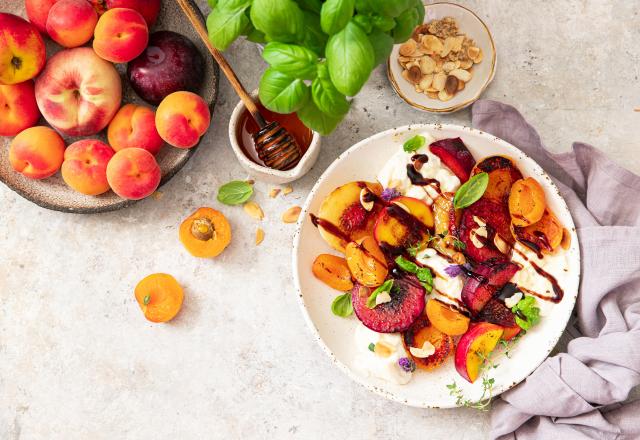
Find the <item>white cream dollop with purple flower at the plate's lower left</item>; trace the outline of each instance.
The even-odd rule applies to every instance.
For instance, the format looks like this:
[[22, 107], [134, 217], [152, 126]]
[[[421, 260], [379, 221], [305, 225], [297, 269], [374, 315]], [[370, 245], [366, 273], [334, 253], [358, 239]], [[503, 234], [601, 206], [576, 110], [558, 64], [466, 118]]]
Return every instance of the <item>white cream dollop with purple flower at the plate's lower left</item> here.
[[[358, 323], [355, 330], [356, 357], [355, 366], [366, 376], [373, 376], [387, 382], [404, 385], [411, 380], [413, 373], [404, 371], [398, 360], [408, 357], [402, 345], [399, 333], [377, 333]], [[369, 350], [369, 344], [383, 343], [391, 349], [388, 357], [380, 356]]]

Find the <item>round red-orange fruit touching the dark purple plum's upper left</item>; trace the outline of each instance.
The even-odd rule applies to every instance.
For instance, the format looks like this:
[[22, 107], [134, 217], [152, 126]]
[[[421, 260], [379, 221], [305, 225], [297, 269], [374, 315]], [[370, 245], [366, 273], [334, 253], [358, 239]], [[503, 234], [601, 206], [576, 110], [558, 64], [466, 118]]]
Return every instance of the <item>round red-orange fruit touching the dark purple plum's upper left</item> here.
[[93, 49], [103, 59], [127, 63], [140, 55], [149, 42], [149, 28], [139, 12], [109, 9], [102, 14], [93, 36]]

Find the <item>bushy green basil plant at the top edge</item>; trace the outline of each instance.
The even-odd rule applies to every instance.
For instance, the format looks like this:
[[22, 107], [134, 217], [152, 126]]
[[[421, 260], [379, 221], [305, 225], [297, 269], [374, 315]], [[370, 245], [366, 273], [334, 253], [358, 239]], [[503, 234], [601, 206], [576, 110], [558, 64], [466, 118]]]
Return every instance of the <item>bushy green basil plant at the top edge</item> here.
[[265, 44], [269, 64], [260, 101], [277, 113], [297, 112], [323, 135], [349, 112], [394, 43], [424, 20], [422, 0], [209, 0], [209, 38], [226, 50], [238, 37]]

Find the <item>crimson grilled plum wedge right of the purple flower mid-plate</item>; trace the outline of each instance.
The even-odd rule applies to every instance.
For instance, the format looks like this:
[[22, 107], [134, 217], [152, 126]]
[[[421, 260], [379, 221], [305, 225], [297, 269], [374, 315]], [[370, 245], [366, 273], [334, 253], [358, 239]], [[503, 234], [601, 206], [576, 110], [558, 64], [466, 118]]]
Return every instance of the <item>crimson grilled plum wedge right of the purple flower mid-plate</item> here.
[[467, 278], [462, 289], [462, 301], [477, 315], [493, 296], [509, 282], [520, 268], [510, 261], [479, 264]]

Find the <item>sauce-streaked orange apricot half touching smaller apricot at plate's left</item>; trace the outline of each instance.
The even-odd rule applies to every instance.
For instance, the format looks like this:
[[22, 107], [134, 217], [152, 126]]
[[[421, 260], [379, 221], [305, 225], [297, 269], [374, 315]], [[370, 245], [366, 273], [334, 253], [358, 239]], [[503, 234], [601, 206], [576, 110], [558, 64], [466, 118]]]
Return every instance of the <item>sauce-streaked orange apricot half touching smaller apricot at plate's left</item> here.
[[357, 242], [352, 241], [345, 249], [347, 265], [358, 283], [376, 287], [387, 277], [387, 262], [376, 240], [367, 236]]

